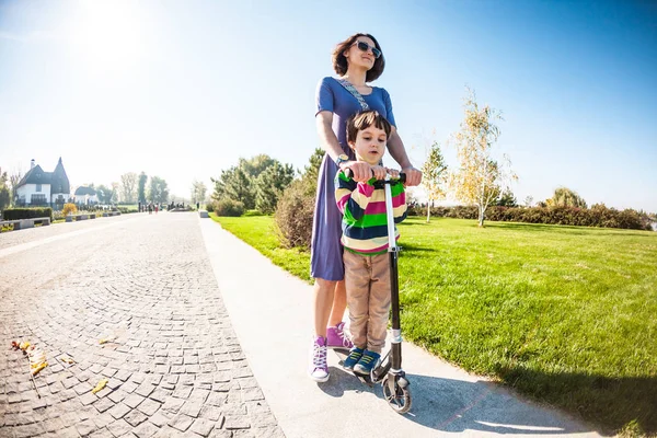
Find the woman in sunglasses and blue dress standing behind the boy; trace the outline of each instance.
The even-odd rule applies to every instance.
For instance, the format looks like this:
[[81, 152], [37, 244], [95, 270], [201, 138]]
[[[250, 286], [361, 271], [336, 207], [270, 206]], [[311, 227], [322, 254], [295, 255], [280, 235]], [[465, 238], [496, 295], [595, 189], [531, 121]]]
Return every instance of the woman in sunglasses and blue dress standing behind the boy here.
[[[339, 79], [324, 78], [316, 91], [318, 134], [326, 154], [320, 168], [313, 218], [311, 245], [311, 276], [314, 284], [314, 337], [311, 348], [309, 374], [318, 382], [328, 380], [326, 348], [350, 348], [342, 322], [347, 307], [344, 265], [342, 260], [342, 217], [335, 204], [334, 180], [338, 166], [350, 169], [354, 180], [365, 182], [371, 177], [371, 168], [355, 160], [346, 141], [347, 118], [367, 105], [383, 115], [392, 125], [388, 150], [406, 173], [406, 185], [418, 185], [422, 173], [413, 168], [404, 143], [396, 132], [392, 103], [388, 92], [370, 87], [385, 67], [381, 46], [369, 34], [355, 34], [337, 45], [333, 53], [333, 69]], [[360, 94], [365, 105], [347, 88]]]

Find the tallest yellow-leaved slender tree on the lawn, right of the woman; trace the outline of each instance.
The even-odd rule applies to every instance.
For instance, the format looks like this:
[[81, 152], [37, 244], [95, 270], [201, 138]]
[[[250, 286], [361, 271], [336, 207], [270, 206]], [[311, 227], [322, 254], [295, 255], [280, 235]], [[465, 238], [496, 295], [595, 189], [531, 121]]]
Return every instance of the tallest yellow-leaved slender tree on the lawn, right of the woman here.
[[493, 146], [500, 134], [495, 125], [495, 120], [502, 119], [499, 112], [488, 105], [480, 108], [474, 92], [469, 89], [464, 113], [461, 130], [456, 135], [460, 166], [450, 174], [450, 186], [459, 200], [477, 206], [479, 226], [483, 227], [488, 206], [517, 176], [510, 172], [508, 158], [504, 157], [504, 165], [492, 158]]

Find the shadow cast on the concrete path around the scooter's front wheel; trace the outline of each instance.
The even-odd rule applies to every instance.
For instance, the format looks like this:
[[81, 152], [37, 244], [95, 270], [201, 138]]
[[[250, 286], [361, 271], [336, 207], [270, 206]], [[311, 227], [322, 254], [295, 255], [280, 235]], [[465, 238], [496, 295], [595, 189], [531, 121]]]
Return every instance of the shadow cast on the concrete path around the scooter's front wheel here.
[[[543, 436], [597, 431], [556, 410], [523, 401], [497, 383], [406, 376], [411, 382], [412, 407], [403, 418], [429, 429]], [[378, 397], [381, 411], [372, 416], [399, 415], [387, 406], [380, 384], [369, 388], [341, 368], [332, 367], [331, 380], [319, 387], [334, 397], [350, 391], [361, 392], [364, 397]]]

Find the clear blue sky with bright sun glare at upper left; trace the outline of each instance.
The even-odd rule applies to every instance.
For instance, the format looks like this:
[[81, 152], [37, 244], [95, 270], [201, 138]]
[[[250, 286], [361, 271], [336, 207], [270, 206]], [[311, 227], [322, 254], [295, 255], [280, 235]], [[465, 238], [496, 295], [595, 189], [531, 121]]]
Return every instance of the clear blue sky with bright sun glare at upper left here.
[[331, 5], [0, 1], [0, 166], [51, 171], [61, 157], [73, 186], [145, 171], [183, 196], [240, 157], [302, 168], [331, 51], [369, 32], [387, 58], [373, 84], [417, 166], [459, 129], [469, 85], [504, 114], [520, 203], [567, 186], [657, 211], [655, 2]]

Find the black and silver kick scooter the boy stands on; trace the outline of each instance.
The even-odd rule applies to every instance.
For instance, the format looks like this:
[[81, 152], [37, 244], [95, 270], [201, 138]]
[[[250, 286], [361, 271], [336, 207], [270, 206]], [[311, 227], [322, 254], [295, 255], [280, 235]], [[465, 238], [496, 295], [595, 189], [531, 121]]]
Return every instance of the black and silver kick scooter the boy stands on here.
[[[347, 171], [350, 176], [350, 171]], [[385, 221], [388, 226], [388, 254], [390, 258], [390, 301], [392, 310], [392, 339], [391, 348], [380, 362], [372, 369], [370, 376], [354, 373], [361, 382], [372, 387], [373, 383], [381, 383], [383, 397], [396, 413], [405, 414], [411, 410], [411, 382], [406, 379], [406, 373], [402, 369], [402, 330], [400, 326], [400, 284], [399, 284], [399, 253], [394, 233], [394, 216], [392, 209], [392, 194], [390, 184], [406, 181], [406, 175], [400, 173], [399, 180], [391, 180], [390, 175], [385, 180], [374, 183], [376, 188], [385, 192]], [[342, 355], [348, 355], [349, 350], [336, 350]], [[344, 358], [343, 357], [343, 360]]]

